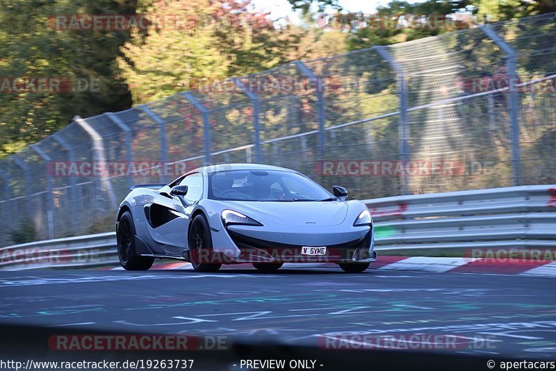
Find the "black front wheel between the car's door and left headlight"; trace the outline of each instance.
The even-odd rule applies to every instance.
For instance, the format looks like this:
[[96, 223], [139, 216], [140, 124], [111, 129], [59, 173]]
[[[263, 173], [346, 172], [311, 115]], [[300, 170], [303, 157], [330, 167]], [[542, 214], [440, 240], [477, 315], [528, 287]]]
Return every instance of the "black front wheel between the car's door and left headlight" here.
[[203, 263], [208, 260], [213, 249], [211, 228], [208, 226], [206, 217], [199, 214], [191, 221], [188, 233], [188, 247], [191, 265], [197, 272], [217, 272], [222, 263]]

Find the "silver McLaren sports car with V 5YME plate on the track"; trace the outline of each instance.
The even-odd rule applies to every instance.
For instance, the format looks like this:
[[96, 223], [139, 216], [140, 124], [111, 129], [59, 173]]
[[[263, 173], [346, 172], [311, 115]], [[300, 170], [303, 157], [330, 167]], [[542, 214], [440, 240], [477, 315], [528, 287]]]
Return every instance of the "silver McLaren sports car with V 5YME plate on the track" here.
[[269, 165], [199, 167], [172, 183], [134, 186], [117, 212], [120, 263], [148, 270], [154, 258], [189, 261], [215, 272], [252, 263], [271, 272], [284, 263], [338, 263], [362, 272], [377, 260], [373, 220], [308, 177]]

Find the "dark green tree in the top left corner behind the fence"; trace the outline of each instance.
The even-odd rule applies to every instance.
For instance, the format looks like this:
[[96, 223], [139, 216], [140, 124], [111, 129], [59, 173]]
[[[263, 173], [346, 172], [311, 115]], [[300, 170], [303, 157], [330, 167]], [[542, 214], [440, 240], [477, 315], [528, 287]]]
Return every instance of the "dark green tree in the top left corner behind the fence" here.
[[[13, 0], [0, 3], [0, 157], [66, 126], [74, 115], [97, 115], [131, 104], [115, 64], [126, 31], [68, 31], [50, 15], [133, 13], [134, 1]], [[64, 81], [60, 92], [16, 92], [13, 81]], [[49, 80], [50, 79], [50, 80]], [[81, 91], [76, 89], [81, 83]], [[91, 88], [90, 83], [94, 84]], [[85, 86], [85, 83], [88, 86]], [[8, 84], [8, 85], [6, 85]]]

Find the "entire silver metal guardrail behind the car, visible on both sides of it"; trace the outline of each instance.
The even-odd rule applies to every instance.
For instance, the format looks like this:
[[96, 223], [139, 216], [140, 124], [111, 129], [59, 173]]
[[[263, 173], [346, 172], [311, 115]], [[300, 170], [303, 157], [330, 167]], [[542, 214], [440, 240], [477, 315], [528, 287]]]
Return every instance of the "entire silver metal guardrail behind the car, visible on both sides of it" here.
[[[556, 185], [521, 186], [364, 201], [376, 249], [556, 247]], [[118, 264], [114, 232], [0, 249], [0, 270]]]

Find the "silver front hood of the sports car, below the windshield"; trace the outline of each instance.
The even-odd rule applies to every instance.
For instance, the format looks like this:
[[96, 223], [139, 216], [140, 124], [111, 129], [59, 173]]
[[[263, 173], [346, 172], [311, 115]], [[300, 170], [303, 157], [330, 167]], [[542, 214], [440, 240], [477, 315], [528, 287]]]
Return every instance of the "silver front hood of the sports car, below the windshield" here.
[[259, 220], [287, 226], [332, 226], [342, 224], [347, 215], [343, 201], [221, 201], [231, 210]]

